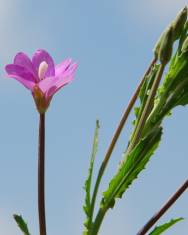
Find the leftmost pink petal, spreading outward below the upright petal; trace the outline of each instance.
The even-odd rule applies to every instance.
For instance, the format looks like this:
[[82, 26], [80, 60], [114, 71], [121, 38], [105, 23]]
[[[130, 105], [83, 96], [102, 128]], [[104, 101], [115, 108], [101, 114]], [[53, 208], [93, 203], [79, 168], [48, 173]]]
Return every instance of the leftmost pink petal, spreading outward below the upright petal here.
[[5, 69], [9, 77], [15, 78], [29, 90], [32, 90], [35, 86], [35, 81], [33, 80], [32, 74], [25, 71], [25, 68], [19, 65], [8, 64]]

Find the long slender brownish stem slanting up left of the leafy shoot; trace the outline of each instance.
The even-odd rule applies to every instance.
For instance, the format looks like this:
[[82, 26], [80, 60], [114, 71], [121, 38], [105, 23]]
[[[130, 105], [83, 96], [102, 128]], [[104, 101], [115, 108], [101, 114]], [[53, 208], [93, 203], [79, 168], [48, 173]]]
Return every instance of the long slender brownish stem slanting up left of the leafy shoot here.
[[[121, 118], [121, 120], [119, 122], [119, 125], [118, 125], [118, 127], [117, 127], [117, 129], [116, 129], [116, 131], [115, 131], [115, 133], [113, 135], [112, 141], [111, 141], [111, 143], [110, 143], [110, 145], [108, 147], [108, 150], [106, 152], [105, 158], [104, 158], [104, 160], [103, 160], [103, 162], [101, 164], [101, 167], [99, 169], [99, 173], [98, 173], [98, 176], [97, 176], [97, 180], [96, 180], [94, 191], [93, 191], [93, 195], [92, 195], [92, 200], [91, 200], [91, 215], [92, 216], [93, 216], [96, 196], [97, 196], [98, 188], [99, 188], [99, 185], [100, 185], [100, 182], [101, 182], [101, 178], [102, 178], [102, 176], [104, 174], [104, 171], [106, 169], [106, 166], [108, 164], [110, 156], [111, 156], [111, 154], [113, 152], [114, 146], [115, 146], [115, 144], [116, 144], [116, 142], [117, 142], [117, 140], [118, 140], [118, 138], [119, 138], [119, 136], [121, 134], [121, 131], [122, 131], [124, 125], [125, 125], [125, 122], [126, 122], [128, 116], [129, 116], [129, 114], [130, 114], [130, 112], [131, 112], [131, 110], [132, 110], [132, 108], [133, 108], [133, 106], [135, 104], [135, 101], [136, 101], [136, 99], [138, 97], [138, 94], [140, 92], [140, 88], [142, 87], [142, 85], [143, 85], [143, 83], [145, 81], [146, 76], [149, 74], [149, 72], [151, 71], [153, 65], [156, 63], [156, 61], [157, 61], [157, 59], [153, 58], [153, 60], [151, 61], [147, 71], [143, 75], [143, 78], [142, 78], [140, 84], [138, 85], [135, 93], [133, 94], [131, 100], [129, 101], [128, 107], [125, 110], [125, 112], [124, 112], [124, 114], [123, 114], [123, 116], [122, 116], [122, 118]], [[92, 221], [92, 218], [91, 218], [91, 221]]]

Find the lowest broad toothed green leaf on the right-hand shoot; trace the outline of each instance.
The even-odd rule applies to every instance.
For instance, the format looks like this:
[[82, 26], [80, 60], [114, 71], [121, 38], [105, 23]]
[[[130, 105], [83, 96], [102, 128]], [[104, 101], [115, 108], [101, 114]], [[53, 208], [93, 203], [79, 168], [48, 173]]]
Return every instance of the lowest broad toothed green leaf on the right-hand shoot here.
[[129, 185], [145, 169], [147, 162], [159, 145], [162, 128], [158, 127], [135, 146], [121, 164], [118, 173], [111, 180], [108, 189], [103, 193], [101, 207], [112, 208], [116, 198], [121, 198]]

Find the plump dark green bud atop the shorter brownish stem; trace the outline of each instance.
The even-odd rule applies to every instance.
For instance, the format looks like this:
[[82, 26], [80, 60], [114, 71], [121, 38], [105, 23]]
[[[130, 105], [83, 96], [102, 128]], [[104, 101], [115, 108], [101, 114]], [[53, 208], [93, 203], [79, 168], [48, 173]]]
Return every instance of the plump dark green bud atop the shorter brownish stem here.
[[159, 48], [159, 60], [161, 61], [161, 64], [166, 65], [172, 55], [172, 49], [173, 49], [173, 28], [169, 27], [164, 35], [162, 36], [160, 48]]

